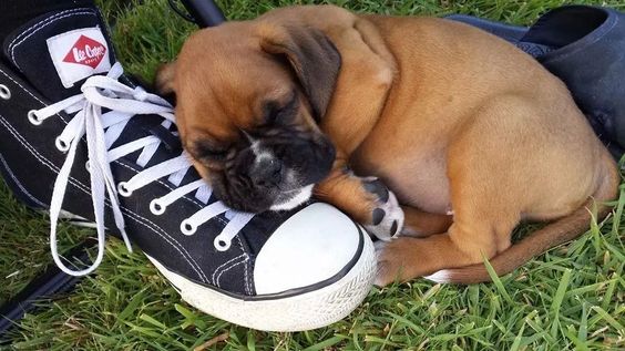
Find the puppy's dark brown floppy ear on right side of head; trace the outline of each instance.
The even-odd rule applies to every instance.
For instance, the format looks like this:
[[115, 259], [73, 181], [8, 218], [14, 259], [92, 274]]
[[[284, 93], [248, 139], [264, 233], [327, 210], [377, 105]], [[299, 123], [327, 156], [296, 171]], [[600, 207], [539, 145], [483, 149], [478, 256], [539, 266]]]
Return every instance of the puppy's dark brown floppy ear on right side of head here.
[[284, 55], [297, 74], [315, 118], [325, 114], [340, 71], [341, 58], [320, 30], [297, 24], [265, 28], [260, 48]]

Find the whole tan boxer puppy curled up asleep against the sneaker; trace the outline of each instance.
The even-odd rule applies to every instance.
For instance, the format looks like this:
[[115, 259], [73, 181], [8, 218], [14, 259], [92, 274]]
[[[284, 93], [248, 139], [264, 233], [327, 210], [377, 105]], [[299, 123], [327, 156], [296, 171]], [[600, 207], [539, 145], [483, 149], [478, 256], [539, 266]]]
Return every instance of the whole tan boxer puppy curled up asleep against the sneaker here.
[[[156, 85], [224, 203], [339, 207], [385, 239], [378, 285], [489, 280], [483, 257], [506, 273], [605, 216], [619, 182], [563, 83], [448, 20], [277, 9], [194, 33]], [[521, 220], [552, 223], [511, 245]]]

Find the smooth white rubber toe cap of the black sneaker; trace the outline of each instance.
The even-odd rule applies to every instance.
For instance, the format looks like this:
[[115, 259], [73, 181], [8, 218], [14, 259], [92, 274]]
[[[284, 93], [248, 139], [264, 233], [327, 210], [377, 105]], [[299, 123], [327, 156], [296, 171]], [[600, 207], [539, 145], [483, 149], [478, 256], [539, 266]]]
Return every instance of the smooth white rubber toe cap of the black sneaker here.
[[278, 293], [336, 277], [355, 261], [362, 233], [330, 205], [305, 207], [279, 226], [258, 254], [256, 293]]

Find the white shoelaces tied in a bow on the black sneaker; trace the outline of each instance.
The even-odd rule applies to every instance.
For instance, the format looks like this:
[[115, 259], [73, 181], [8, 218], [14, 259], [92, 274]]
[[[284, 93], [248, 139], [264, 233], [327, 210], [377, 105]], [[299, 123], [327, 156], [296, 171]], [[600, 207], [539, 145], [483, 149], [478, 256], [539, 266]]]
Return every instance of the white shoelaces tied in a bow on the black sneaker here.
[[[127, 122], [137, 114], [160, 115], [165, 118], [162, 125], [167, 128], [175, 122], [173, 109], [165, 100], [147, 93], [142, 87], [133, 89], [120, 83], [117, 79], [122, 73], [121, 64], [115, 63], [106, 76], [94, 75], [89, 78], [81, 86], [81, 94], [68, 97], [41, 110], [31, 111], [28, 115], [32, 124], [39, 125], [61, 111], [74, 114], [57, 138], [57, 148], [61, 152], [66, 152], [66, 158], [54, 183], [50, 205], [50, 249], [52, 258], [62, 271], [71, 276], [88, 275], [98, 268], [102, 261], [105, 241], [104, 205], [106, 194], [113, 209], [115, 225], [129, 251], [132, 251], [124, 229], [124, 218], [117, 194], [124, 197], [132, 196], [134, 190], [165, 176], [170, 176], [170, 182], [178, 186], [188, 168], [192, 167], [187, 155], [183, 153], [177, 157], [141, 171], [127, 182], [115, 185], [110, 163], [141, 149], [142, 152], [136, 159], [136, 164], [144, 167], [161, 144], [161, 140], [156, 136], [145, 136], [111, 149], [110, 147], [120, 137]], [[110, 111], [103, 114], [102, 107]], [[70, 172], [74, 163], [76, 147], [85, 134], [89, 153], [89, 161], [85, 166], [91, 174], [91, 197], [98, 230], [98, 256], [89, 268], [72, 270], [59, 257], [57, 249], [57, 224]], [[178, 186], [165, 196], [153, 199], [150, 203], [150, 210], [154, 215], [162, 215], [167, 206], [194, 190], [196, 192], [195, 197], [198, 200], [205, 204], [208, 202], [212, 189], [204, 180], [198, 179], [184, 186]], [[199, 225], [225, 213], [229, 221], [214, 239], [215, 248], [225, 251], [230, 247], [230, 241], [237, 233], [252, 219], [252, 214], [238, 213], [229, 209], [221, 202], [215, 202], [199, 209], [191, 217], [183, 219], [181, 221], [181, 231], [184, 235], [193, 235]], [[175, 218], [172, 219], [174, 220]]]

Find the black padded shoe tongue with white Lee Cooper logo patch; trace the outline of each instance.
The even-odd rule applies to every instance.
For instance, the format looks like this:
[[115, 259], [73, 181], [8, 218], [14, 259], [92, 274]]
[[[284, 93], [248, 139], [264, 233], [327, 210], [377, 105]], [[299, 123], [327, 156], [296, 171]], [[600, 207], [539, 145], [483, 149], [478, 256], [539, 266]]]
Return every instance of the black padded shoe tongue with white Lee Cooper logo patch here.
[[3, 53], [53, 102], [80, 93], [86, 78], [109, 72], [115, 62], [103, 22], [92, 8], [33, 19], [4, 40]]

